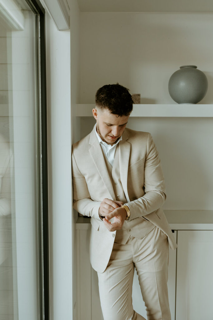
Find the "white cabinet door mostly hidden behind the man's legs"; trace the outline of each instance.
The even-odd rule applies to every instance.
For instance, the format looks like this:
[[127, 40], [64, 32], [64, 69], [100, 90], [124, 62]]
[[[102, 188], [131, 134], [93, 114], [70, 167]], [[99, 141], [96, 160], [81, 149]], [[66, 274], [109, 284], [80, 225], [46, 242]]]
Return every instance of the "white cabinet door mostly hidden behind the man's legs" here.
[[[177, 237], [177, 231], [174, 232], [174, 237]], [[169, 305], [171, 311], [171, 320], [175, 320], [175, 281], [176, 281], [176, 250], [169, 248], [169, 268], [168, 268], [168, 293]], [[133, 308], [141, 316], [147, 319], [146, 307], [141, 296], [141, 288], [138, 281], [137, 272], [134, 272], [133, 279]]]

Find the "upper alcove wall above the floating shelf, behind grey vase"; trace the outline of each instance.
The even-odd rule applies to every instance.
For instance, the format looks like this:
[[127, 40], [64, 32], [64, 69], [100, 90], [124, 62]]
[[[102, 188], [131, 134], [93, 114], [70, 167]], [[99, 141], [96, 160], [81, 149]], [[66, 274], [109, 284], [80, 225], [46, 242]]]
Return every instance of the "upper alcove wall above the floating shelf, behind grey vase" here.
[[80, 103], [110, 83], [141, 93], [141, 103], [175, 103], [169, 78], [181, 65], [205, 72], [213, 103], [213, 13], [81, 12]]

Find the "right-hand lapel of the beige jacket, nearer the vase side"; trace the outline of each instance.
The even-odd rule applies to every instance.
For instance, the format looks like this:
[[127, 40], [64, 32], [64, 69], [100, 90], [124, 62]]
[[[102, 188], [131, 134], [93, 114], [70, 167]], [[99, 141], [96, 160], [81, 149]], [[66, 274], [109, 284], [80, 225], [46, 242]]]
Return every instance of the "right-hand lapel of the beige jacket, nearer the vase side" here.
[[126, 130], [122, 135], [122, 140], [119, 142], [119, 166], [120, 166], [120, 178], [124, 189], [126, 200], [129, 202], [129, 196], [127, 191], [127, 177], [128, 177], [128, 166], [129, 156], [131, 151], [131, 143], [126, 141], [128, 139], [128, 133]]

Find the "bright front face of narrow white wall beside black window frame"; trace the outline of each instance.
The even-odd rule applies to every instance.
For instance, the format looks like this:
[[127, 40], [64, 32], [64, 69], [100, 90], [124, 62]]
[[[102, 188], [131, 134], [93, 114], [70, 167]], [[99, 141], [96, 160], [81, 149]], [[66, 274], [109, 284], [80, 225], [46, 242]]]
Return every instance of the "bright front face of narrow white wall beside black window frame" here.
[[70, 31], [46, 14], [50, 319], [72, 319]]

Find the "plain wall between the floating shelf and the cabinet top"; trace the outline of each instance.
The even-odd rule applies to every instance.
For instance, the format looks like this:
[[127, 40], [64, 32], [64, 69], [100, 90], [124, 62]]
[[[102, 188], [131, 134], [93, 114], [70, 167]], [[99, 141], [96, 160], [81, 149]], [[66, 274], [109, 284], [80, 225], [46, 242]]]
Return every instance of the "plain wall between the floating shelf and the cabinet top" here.
[[[81, 138], [93, 128], [81, 118]], [[159, 151], [165, 210], [213, 210], [213, 118], [131, 118], [128, 128], [151, 132]]]

